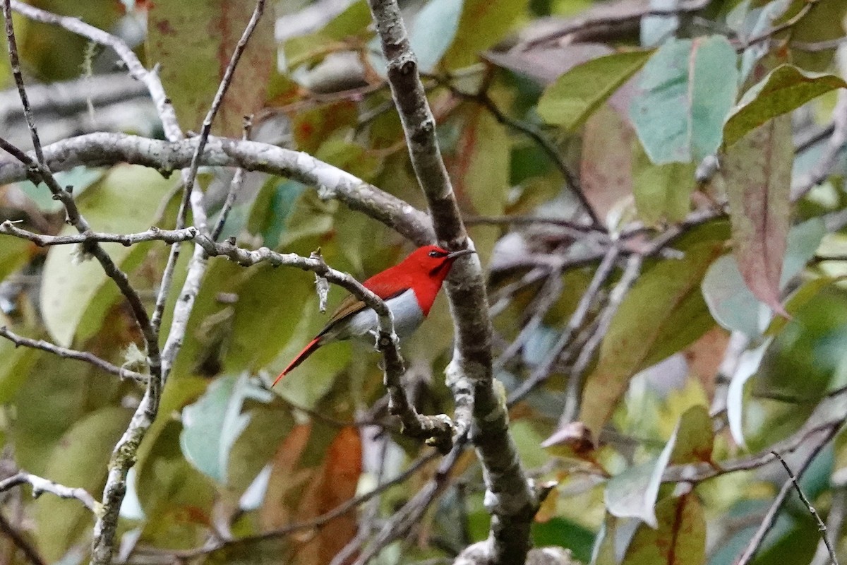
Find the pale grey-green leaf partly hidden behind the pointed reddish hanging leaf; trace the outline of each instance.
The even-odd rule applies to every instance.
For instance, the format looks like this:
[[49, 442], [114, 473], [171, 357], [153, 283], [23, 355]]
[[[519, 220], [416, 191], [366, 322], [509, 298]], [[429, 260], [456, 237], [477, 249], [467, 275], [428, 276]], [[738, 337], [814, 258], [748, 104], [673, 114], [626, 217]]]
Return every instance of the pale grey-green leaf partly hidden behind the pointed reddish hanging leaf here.
[[[780, 289], [805, 268], [825, 234], [826, 226], [819, 218], [807, 220], [791, 229]], [[712, 263], [701, 289], [712, 317], [727, 330], [740, 331], [756, 339], [772, 318], [767, 307], [745, 285], [738, 263], [731, 256], [725, 255]]]

